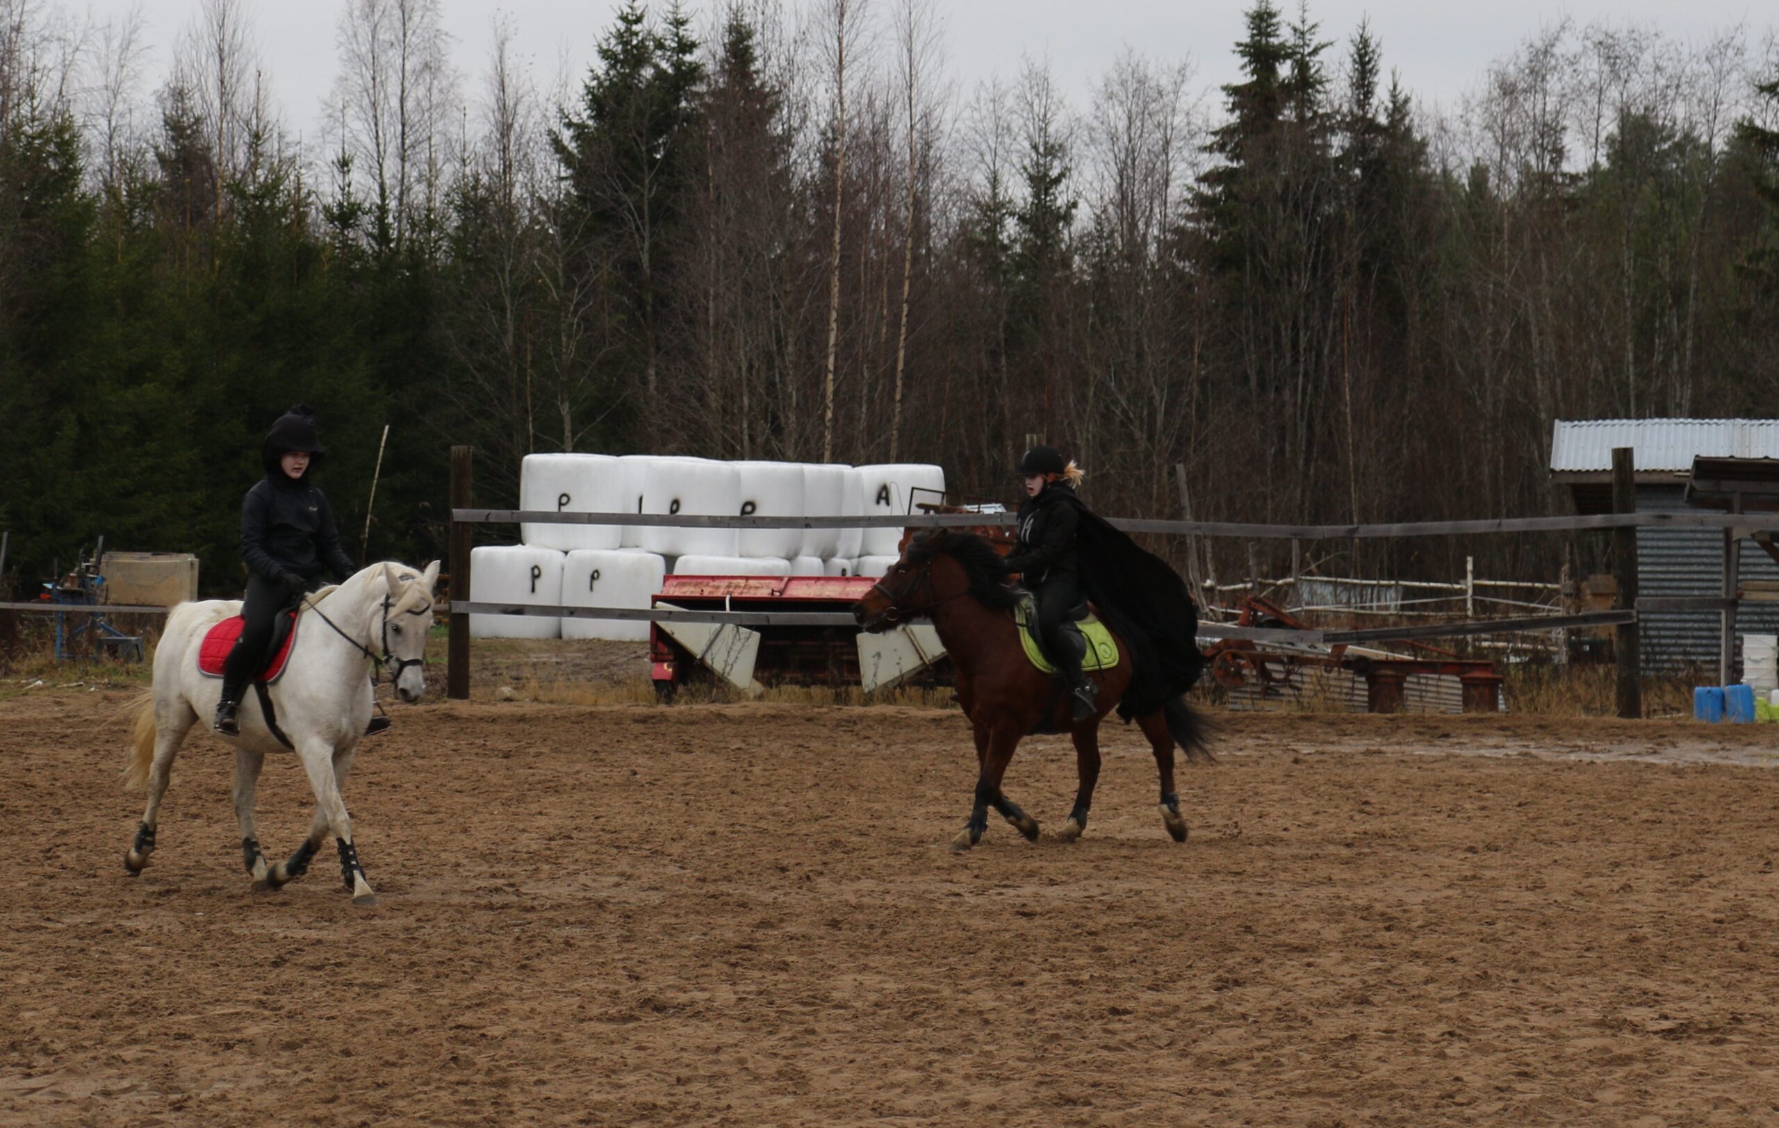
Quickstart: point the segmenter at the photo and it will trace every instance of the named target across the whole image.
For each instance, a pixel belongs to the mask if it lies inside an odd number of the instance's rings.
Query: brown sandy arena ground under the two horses
[[[206,735],[126,877],[119,701],[0,701],[0,1123],[1779,1119],[1770,728],[1226,717],[1187,845],[1115,728],[1078,845],[952,856],[957,713],[423,705],[354,909],[249,888]],[[267,763],[269,852],[310,802]]]

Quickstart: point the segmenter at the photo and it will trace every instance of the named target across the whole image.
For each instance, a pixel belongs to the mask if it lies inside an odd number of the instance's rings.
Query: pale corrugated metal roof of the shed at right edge
[[[1608,473],[1612,448],[1635,450],[1638,471],[1692,470],[1695,455],[1779,459],[1779,420],[1557,420],[1551,473]]]

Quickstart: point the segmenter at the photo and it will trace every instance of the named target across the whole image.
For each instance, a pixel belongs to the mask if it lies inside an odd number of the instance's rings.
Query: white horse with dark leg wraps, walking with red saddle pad
[[[370,722],[372,662],[390,665],[402,701],[418,701],[425,694],[422,660],[427,630],[432,626],[432,585],[438,576],[438,560],[423,573],[404,564],[372,564],[345,584],[304,600],[285,673],[267,690],[276,724],[290,738],[315,788],[315,818],[297,852],[274,866],[267,866],[253,831],[253,792],[265,754],[283,751],[285,745],[267,726],[258,696],[249,692],[244,697],[240,737],[228,740],[235,744],[240,850],[258,888],[276,890],[301,877],[331,829],[352,904],[377,904],[352,847],[352,820],[345,813],[340,788],[345,786],[352,753]],[[132,875],[142,872],[155,850],[155,822],[180,742],[199,717],[215,713],[222,696],[221,678],[197,671],[197,648],[213,624],[238,614],[238,600],[205,600],[180,603],[167,616],[167,630],[155,649],[153,692],[135,713],[135,756],[125,769],[130,786],[148,786],[142,826],[123,859]]]

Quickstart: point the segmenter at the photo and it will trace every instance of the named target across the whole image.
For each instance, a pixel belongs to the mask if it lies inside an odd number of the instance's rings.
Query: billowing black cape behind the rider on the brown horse
[[[1126,721],[1153,713],[1192,689],[1204,671],[1197,603],[1167,560],[1114,528],[1075,491],[1057,493],[1080,518],[1082,587],[1107,626],[1124,639],[1135,665],[1117,712]]]

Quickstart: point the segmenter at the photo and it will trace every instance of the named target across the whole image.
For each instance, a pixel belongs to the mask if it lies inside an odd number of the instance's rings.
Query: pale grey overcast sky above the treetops
[[[199,0],[85,0],[98,21],[139,9],[144,18],[144,75],[158,85],[180,28]],[[945,50],[952,78],[962,93],[991,73],[1012,78],[1021,57],[1050,57],[1057,80],[1080,105],[1096,77],[1126,46],[1162,62],[1192,59],[1194,87],[1213,91],[1233,82],[1231,46],[1242,34],[1249,0],[939,0]],[[82,11],[69,0],[71,12]],[[489,27],[496,14],[512,18],[518,48],[534,78],[550,87],[566,62],[578,77],[592,59],[592,44],[607,28],[616,0],[445,0],[445,27],[466,93],[487,60]],[[712,0],[690,0],[694,12]],[[1295,2],[1281,7],[1295,12]],[[247,0],[254,37],[265,59],[285,123],[301,137],[320,130],[322,105],[334,77],[334,32],[343,0]],[[877,2],[879,16],[888,11]],[[1384,46],[1384,62],[1402,73],[1411,93],[1427,107],[1455,105],[1489,60],[1507,55],[1541,25],[1564,16],[1654,25],[1667,36],[1701,41],[1719,30],[1745,25],[1751,44],[1774,25],[1772,5],[1747,0],[1316,0],[1309,14],[1320,21],[1334,53],[1359,20],[1370,16]]]

